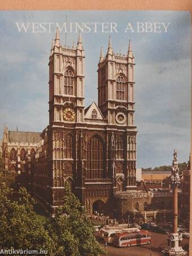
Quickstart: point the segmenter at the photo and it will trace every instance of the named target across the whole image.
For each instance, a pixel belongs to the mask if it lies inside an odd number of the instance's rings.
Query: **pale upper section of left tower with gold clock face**
[[[49,62],[49,124],[84,121],[85,54],[79,33],[77,47],[60,45],[59,29]]]

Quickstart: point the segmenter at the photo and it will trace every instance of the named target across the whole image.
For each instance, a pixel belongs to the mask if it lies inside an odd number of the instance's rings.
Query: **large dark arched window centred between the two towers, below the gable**
[[[87,147],[86,177],[101,179],[103,177],[103,144],[97,135],[91,137]]]

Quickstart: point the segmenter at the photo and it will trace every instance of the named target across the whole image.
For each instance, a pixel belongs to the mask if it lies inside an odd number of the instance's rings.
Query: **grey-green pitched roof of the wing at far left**
[[[9,142],[33,142],[37,143],[41,140],[41,132],[18,132],[8,131]]]

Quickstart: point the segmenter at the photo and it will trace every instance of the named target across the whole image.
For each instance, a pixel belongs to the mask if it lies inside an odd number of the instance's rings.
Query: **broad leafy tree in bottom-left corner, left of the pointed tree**
[[[5,183],[0,184],[0,247],[42,249],[54,256],[56,245],[33,211],[34,200],[25,188],[19,190],[19,195],[19,201],[12,201],[12,190]]]

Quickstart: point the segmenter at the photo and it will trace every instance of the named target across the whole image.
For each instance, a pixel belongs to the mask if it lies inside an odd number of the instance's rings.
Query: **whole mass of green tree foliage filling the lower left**
[[[34,199],[20,188],[12,199],[11,172],[0,167],[0,248],[47,250],[49,256],[97,256],[104,253],[80,201],[66,188],[63,207],[54,218],[40,218]]]

